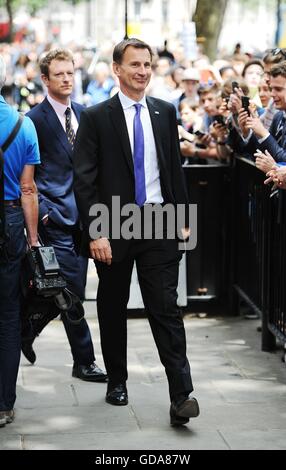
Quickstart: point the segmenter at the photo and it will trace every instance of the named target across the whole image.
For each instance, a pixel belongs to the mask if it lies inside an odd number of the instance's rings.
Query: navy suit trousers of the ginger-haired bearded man
[[[61,273],[68,288],[80,299],[84,298],[88,259],[79,256],[75,249],[74,228],[61,228],[51,220],[46,225],[40,223],[39,233],[45,244],[54,247]],[[73,317],[72,312],[70,312]],[[90,365],[95,360],[90,330],[86,320],[74,324],[65,314],[61,317],[71,347],[75,364]]]

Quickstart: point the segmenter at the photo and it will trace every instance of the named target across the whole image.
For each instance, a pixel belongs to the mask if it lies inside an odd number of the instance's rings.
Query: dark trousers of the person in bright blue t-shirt
[[[7,207],[8,241],[0,255],[0,411],[11,410],[21,354],[20,266],[25,253],[21,207]]]

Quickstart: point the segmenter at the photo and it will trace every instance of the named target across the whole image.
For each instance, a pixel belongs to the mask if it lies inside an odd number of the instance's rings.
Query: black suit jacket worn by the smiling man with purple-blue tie
[[[147,105],[164,203],[184,204],[187,209],[175,108],[166,101],[150,97],[147,97]],[[133,159],[118,95],[82,112],[74,147],[74,173],[75,196],[86,234],[95,218],[89,215],[93,204],[105,204],[112,214],[112,196],[120,196],[121,207],[134,203]],[[113,260],[119,260],[128,249],[128,241],[111,239],[111,247]]]

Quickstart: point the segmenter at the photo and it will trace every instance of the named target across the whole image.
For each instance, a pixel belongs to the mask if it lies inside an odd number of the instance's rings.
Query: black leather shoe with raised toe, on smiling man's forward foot
[[[194,397],[183,397],[173,400],[170,407],[171,426],[181,426],[189,422],[190,418],[196,418],[200,414],[200,408]]]

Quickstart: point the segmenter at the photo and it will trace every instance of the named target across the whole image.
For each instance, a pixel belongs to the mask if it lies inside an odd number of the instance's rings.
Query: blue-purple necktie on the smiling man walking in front
[[[146,201],[145,170],[144,170],[144,133],[140,119],[142,105],[134,104],[136,114],[133,121],[134,132],[134,174],[135,174],[135,202],[139,207]]]

